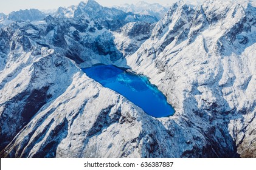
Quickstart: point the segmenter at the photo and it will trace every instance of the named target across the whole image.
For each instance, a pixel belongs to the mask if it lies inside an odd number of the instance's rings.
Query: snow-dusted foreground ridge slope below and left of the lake
[[[41,50],[10,59],[19,71],[2,76],[10,80],[1,88],[1,144],[18,134],[1,157],[168,156],[167,143],[157,140],[168,139],[159,121],[68,58]]]

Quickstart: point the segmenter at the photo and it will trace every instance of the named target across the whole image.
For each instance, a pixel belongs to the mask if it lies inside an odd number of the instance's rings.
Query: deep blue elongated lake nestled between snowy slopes
[[[153,117],[167,117],[174,113],[166,97],[150,84],[147,77],[112,65],[92,66],[83,71],[88,77],[123,95]]]

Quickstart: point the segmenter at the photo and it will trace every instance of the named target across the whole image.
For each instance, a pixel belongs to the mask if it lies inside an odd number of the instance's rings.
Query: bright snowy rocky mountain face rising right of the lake
[[[255,157],[255,7],[174,4],[128,65],[151,78],[186,129],[183,156]],[[191,128],[191,129],[190,129]],[[189,149],[191,148],[191,149]]]

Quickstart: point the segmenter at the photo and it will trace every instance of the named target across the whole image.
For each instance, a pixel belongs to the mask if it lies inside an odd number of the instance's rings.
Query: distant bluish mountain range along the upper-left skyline
[[[114,8],[102,7],[102,5],[93,0],[80,2],[78,5],[72,5],[67,8],[60,7],[56,12],[50,15],[57,18],[76,18],[78,16],[84,16],[94,19],[94,21],[112,30],[118,29],[128,22],[145,21],[154,23],[158,21],[155,16],[134,14]],[[13,21],[41,21],[46,16],[45,13],[36,9],[19,10],[7,16],[3,15],[0,24],[7,25]]]

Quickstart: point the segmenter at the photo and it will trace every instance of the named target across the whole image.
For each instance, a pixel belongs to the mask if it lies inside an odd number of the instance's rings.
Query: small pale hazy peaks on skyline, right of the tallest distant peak
[[[144,1],[137,2],[137,4],[123,4],[114,6],[114,8],[122,10],[124,12],[132,12],[140,15],[151,15],[157,19],[161,19],[165,13],[168,12],[169,7],[165,7],[161,4],[149,4]]]

